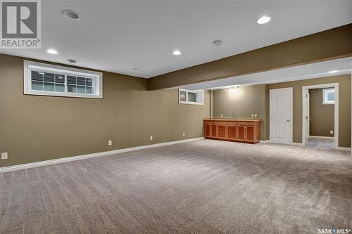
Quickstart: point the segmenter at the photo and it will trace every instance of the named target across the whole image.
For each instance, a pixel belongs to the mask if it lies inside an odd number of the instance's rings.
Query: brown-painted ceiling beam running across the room
[[[148,90],[168,89],[350,56],[352,56],[352,23],[161,74],[148,79]]]

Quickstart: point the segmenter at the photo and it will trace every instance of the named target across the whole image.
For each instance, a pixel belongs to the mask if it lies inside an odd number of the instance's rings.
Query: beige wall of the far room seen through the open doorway
[[[309,90],[310,136],[334,136],[334,105],[322,105],[322,89]]]

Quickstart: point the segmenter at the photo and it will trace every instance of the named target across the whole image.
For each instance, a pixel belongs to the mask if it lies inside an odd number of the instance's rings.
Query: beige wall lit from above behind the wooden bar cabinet
[[[213,117],[232,117],[234,110],[235,117],[251,117],[257,114],[263,119],[261,123],[261,139],[265,140],[265,124],[267,118],[266,106],[266,85],[258,84],[253,86],[242,86],[237,91],[224,91],[218,89],[213,91]]]

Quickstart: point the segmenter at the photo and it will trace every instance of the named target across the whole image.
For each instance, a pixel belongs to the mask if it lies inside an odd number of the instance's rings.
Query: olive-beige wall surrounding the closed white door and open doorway
[[[270,89],[294,88],[294,142],[302,142],[302,86],[315,84],[339,83],[339,146],[351,146],[351,74],[317,79],[305,79],[296,82],[268,84]],[[269,100],[267,100],[269,108]],[[269,117],[269,113],[268,113]],[[267,119],[268,122],[268,119]],[[269,122],[266,124],[269,138]]]

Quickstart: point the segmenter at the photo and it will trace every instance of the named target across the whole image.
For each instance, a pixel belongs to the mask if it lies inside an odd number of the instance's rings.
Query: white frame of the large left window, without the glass
[[[56,91],[38,91],[32,90],[32,70],[38,72],[51,72],[55,74],[63,74],[65,76],[65,92]],[[80,76],[86,78],[92,78],[94,83],[94,91],[90,93],[68,93],[67,91],[67,76]],[[63,67],[58,65],[51,65],[46,63],[37,63],[33,61],[23,61],[23,93],[27,95],[39,95],[39,96],[61,96],[61,97],[72,97],[72,98],[103,98],[103,73],[93,72],[89,70],[82,70],[73,67]]]

